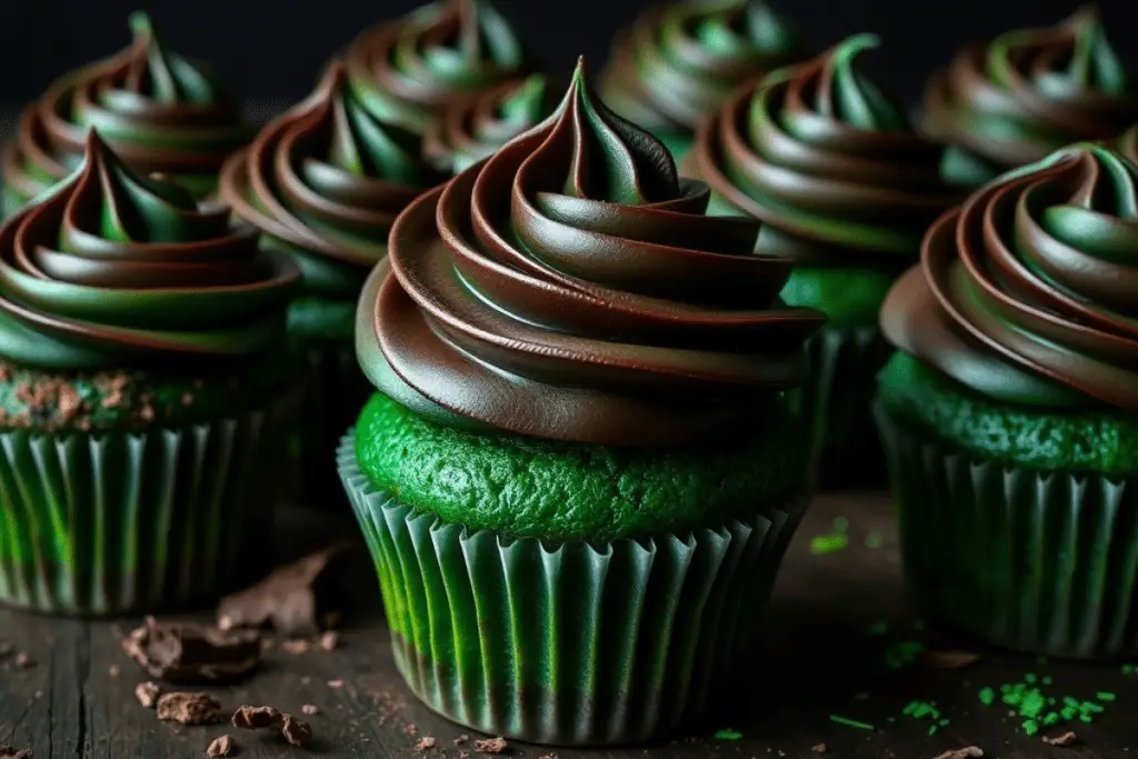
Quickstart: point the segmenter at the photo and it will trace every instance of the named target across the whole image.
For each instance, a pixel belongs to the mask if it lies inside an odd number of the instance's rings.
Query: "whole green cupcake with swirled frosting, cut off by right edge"
[[[1064,149],[929,231],[881,312],[905,570],[943,625],[1138,653],[1138,166]]]

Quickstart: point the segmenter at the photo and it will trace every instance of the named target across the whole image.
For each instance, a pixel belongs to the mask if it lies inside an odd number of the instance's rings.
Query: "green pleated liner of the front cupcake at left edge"
[[[214,600],[267,547],[294,405],[141,432],[0,432],[0,602],[106,616]]]

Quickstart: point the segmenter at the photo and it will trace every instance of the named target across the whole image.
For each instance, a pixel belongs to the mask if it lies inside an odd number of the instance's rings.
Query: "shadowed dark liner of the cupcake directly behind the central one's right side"
[[[811,481],[827,488],[884,485],[872,405],[890,347],[875,325],[823,327],[807,349],[810,379],[794,397],[810,430]]]

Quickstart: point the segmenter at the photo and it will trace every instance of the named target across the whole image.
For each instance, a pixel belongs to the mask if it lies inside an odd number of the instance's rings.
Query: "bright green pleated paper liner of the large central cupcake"
[[[339,467],[411,690],[467,727],[553,745],[646,741],[699,720],[748,670],[805,508],[550,548],[415,514],[361,472],[352,435]]]

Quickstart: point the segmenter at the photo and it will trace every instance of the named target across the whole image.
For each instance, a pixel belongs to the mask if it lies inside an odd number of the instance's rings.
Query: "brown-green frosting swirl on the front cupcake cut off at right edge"
[[[1066,148],[930,229],[881,312],[897,347],[1000,401],[1138,411],[1138,166]]]

